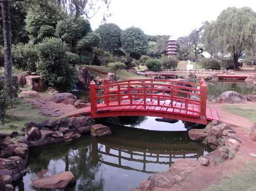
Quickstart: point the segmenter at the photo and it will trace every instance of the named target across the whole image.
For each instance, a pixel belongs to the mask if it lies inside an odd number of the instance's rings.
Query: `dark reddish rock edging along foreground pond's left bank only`
[[[94,137],[111,134],[109,127],[95,125],[91,117],[45,120],[41,123],[31,121],[25,131],[25,136],[20,137],[17,144],[14,144],[8,134],[0,134],[0,191],[14,191],[12,184],[29,170],[29,147],[70,142],[89,132]]]

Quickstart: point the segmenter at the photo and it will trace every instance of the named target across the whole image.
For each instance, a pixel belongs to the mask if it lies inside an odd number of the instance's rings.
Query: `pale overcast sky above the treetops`
[[[108,23],[126,29],[141,28],[148,35],[180,37],[199,28],[203,21],[216,20],[229,6],[249,6],[256,11],[255,0],[112,0]],[[101,24],[99,13],[90,20],[93,30]]]

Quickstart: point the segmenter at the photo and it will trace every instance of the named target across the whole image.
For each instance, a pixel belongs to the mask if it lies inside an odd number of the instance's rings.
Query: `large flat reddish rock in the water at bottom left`
[[[74,182],[72,172],[61,172],[51,177],[40,178],[32,181],[32,186],[36,189],[65,189],[68,184]]]

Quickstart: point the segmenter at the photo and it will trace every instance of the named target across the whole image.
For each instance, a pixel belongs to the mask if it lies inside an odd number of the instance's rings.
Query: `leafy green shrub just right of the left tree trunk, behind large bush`
[[[12,47],[13,65],[18,69],[36,71],[37,50],[32,44],[18,44]]]

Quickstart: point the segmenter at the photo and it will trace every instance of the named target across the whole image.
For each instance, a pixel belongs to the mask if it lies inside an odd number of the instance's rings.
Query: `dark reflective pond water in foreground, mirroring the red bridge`
[[[177,159],[196,160],[210,152],[208,146],[189,140],[182,121],[131,118],[130,123],[128,118],[112,120],[123,125],[105,124],[113,133],[109,137],[85,135],[71,143],[31,148],[31,171],[16,190],[34,191],[32,179],[71,171],[77,182],[65,191],[129,191],[150,174],[168,170]]]

